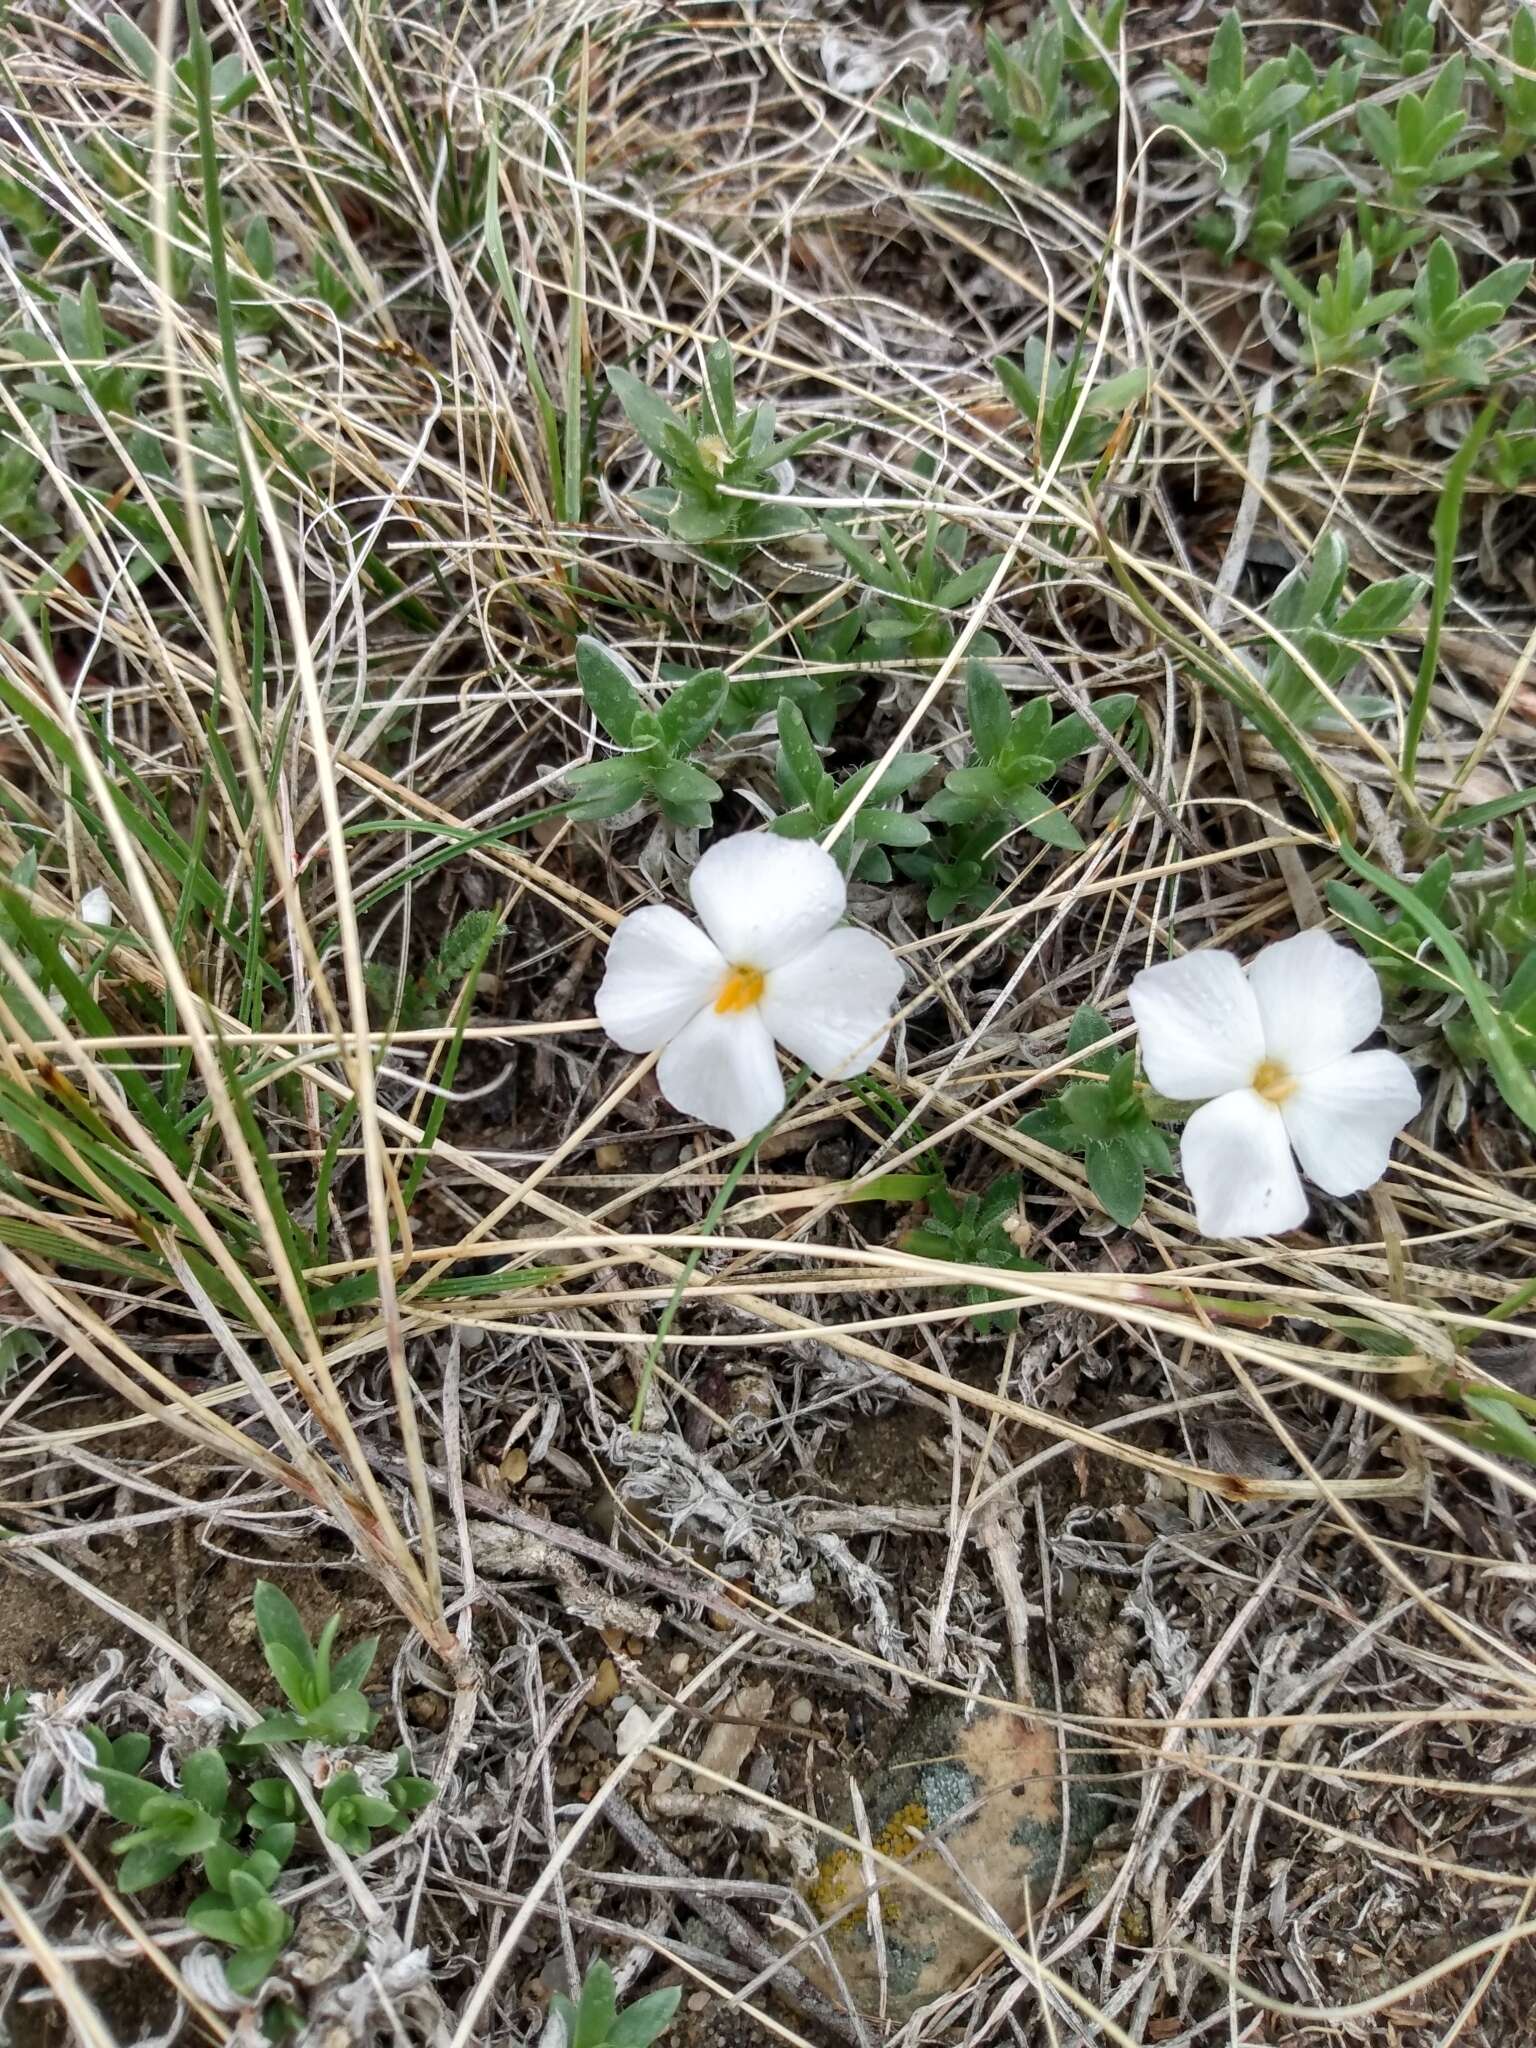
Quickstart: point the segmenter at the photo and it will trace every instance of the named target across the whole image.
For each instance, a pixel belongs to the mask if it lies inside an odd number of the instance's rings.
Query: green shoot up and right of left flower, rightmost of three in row
[[[1135,711],[1135,696],[1102,696],[1094,705],[1098,725],[1118,731]],[[1049,846],[1081,852],[1083,836],[1042,784],[1092,748],[1102,745],[1100,729],[1081,713],[1051,717],[1051,702],[1032,696],[1010,711],[1008,692],[993,672],[977,662],[967,686],[971,762],[944,776],[944,788],[928,799],[924,817],[950,827],[1022,825]]]

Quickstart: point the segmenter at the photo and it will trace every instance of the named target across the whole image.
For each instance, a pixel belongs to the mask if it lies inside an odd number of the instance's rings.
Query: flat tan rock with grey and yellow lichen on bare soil
[[[1024,1712],[983,1706],[967,1718],[963,1702],[940,1700],[913,1714],[897,1751],[860,1788],[874,1849],[903,1866],[901,1876],[883,1872],[881,1882],[889,2017],[901,2019],[950,1991],[997,1946],[952,1911],[961,1905],[975,1915],[965,1886],[1020,1929],[1038,1915],[1051,1886],[1077,1870],[1106,1821],[1094,1776],[1075,1767],[1063,1802],[1057,1735]],[[948,1858],[932,1847],[934,1839]],[[905,1882],[907,1872],[938,1896]],[[823,1925],[831,1923],[827,1944],[848,1997],[874,2013],[881,1968],[862,1855],[842,1847],[825,1855],[807,1901]],[[831,1970],[809,1960],[807,1950],[797,1960],[842,1999]]]

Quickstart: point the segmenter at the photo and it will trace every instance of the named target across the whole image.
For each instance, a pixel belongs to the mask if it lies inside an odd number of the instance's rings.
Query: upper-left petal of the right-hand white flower
[[[1260,1008],[1231,952],[1186,952],[1143,967],[1130,983],[1141,1065],[1176,1102],[1204,1102],[1247,1087],[1264,1059]]]

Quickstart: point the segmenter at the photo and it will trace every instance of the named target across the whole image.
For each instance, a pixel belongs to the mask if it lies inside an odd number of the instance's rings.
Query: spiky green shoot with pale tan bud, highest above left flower
[[[795,459],[836,426],[778,440],[770,403],[737,406],[729,342],[705,354],[705,389],[688,420],[633,371],[610,369],[608,383],[666,477],[633,492],[633,502],[692,549],[713,582],[729,588],[756,549],[807,530],[805,514],[782,500],[795,483]],[[743,492],[760,496],[737,496]]]

